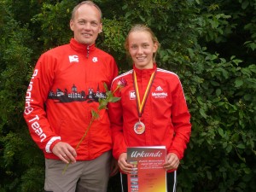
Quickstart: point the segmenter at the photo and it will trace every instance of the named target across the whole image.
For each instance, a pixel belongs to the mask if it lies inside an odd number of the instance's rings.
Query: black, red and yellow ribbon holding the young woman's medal
[[[153,84],[155,73],[156,73],[156,71],[154,71],[154,73],[151,74],[151,77],[150,77],[148,85],[147,85],[147,89],[143,96],[143,101],[141,102],[140,94],[139,94],[138,87],[137,87],[137,76],[136,76],[136,72],[133,70],[133,84],[134,84],[134,88],[135,88],[135,95],[136,95],[136,99],[137,99],[137,111],[138,111],[139,117],[141,117],[143,114],[143,109],[144,109],[145,103],[148,98],[149,90]]]

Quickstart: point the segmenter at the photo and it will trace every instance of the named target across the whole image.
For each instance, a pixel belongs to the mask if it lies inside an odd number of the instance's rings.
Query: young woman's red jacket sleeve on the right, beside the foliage
[[[181,160],[191,133],[190,114],[183,93],[183,87],[177,78],[172,90],[172,125],[174,127],[174,137],[172,145],[168,148],[168,153],[177,154]]]

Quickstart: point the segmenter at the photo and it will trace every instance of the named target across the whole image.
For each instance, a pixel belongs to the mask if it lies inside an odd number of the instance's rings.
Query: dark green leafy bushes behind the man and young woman
[[[160,41],[158,66],[183,82],[192,135],[177,192],[256,190],[256,3],[254,0],[95,0],[103,13],[97,46],[131,68],[124,42],[144,23]],[[74,0],[0,0],[0,191],[44,190],[44,155],[22,117],[34,64],[67,44]],[[109,192],[119,191],[118,177]]]

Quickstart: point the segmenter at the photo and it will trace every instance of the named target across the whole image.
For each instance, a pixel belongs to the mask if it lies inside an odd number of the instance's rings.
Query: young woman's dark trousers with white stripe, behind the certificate
[[[167,172],[167,192],[176,192],[177,175],[176,172]],[[128,192],[127,175],[120,173],[121,192]]]

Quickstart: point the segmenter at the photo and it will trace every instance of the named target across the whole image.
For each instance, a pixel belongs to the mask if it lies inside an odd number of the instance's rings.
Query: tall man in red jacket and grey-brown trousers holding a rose
[[[96,48],[102,12],[95,3],[79,3],[70,28],[74,37],[69,44],[40,56],[26,92],[24,118],[44,151],[45,191],[107,191],[112,140],[105,109],[79,141],[91,109],[96,111],[99,98],[106,96],[104,83],[110,86],[118,68],[111,55]]]

